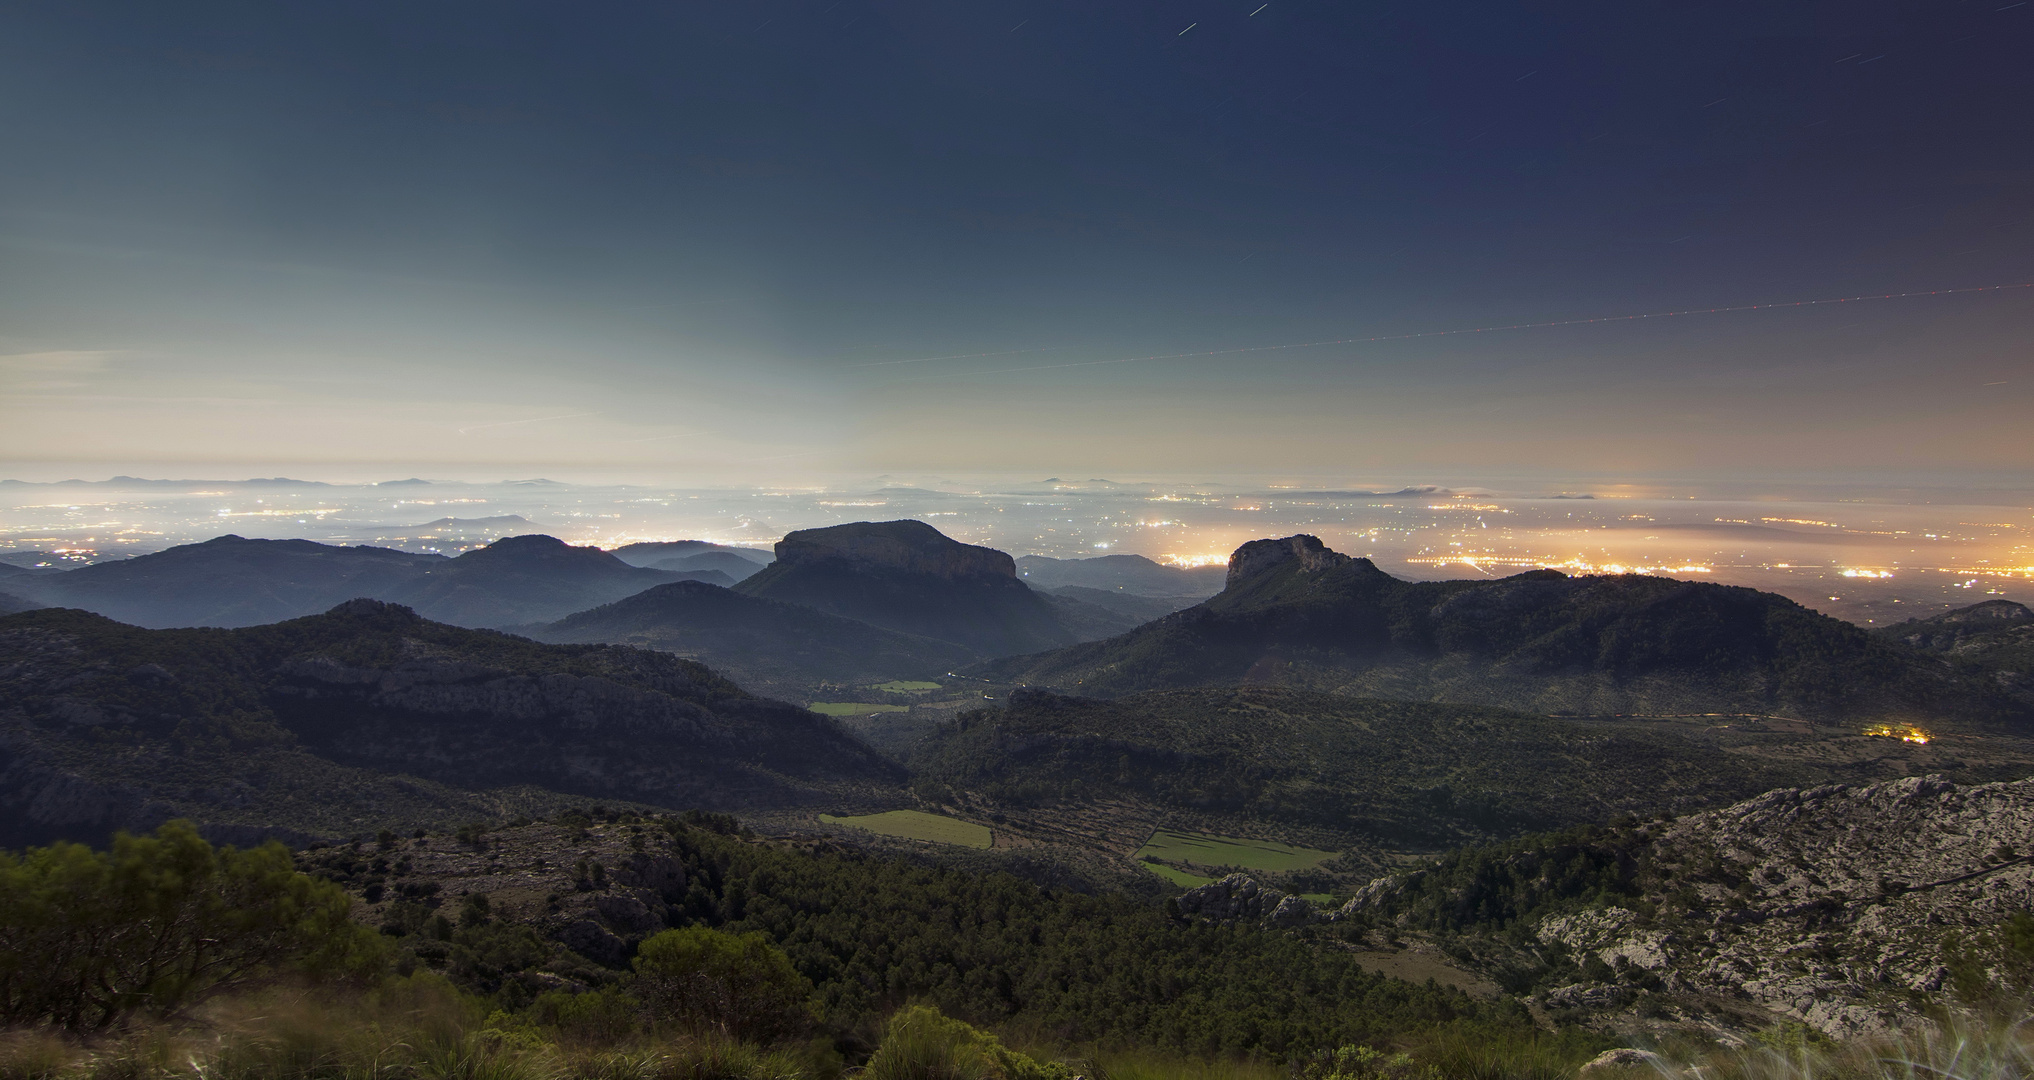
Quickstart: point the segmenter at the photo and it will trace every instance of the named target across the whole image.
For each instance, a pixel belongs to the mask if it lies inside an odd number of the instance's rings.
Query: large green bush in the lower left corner
[[[102,1029],[264,972],[376,968],[350,909],[281,844],[214,848],[189,822],[0,852],[0,1023]]]

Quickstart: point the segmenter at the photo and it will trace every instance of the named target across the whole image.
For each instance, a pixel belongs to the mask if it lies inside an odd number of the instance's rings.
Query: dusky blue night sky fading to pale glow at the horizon
[[[2034,289],[1363,342],[2034,283],[2014,0],[14,2],[0,146],[14,476],[2034,476]]]

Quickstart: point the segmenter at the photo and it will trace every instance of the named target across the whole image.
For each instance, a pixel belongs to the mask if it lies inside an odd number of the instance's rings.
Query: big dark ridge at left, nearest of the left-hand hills
[[[565,797],[838,805],[901,771],[832,720],[679,657],[539,645],[372,600],[271,626],[0,618],[0,844],[191,818],[362,836]]]

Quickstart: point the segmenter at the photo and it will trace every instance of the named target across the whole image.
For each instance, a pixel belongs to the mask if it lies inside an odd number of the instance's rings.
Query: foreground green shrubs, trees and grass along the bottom
[[[1617,1045],[1507,999],[1371,974],[1349,952],[1361,921],[1184,923],[1125,897],[767,842],[724,816],[610,816],[543,828],[626,830],[637,854],[683,866],[685,891],[608,964],[486,893],[364,887],[348,879],[350,852],[370,858],[358,848],[309,858],[313,877],[275,844],[212,848],[171,824],[104,852],[4,856],[0,1080],[1554,1080]],[[1397,925],[1515,927],[1643,877],[1627,824],[1534,840],[1560,842],[1560,875],[1513,879],[1517,844],[1458,852],[1395,899]],[[488,834],[458,842],[484,850]],[[342,881],[405,899],[362,905]],[[2034,956],[2034,917],[2010,929]],[[1591,1076],[1989,1080],[2034,1064],[2016,1025],[1851,1045],[1784,1025],[1731,1052],[1672,1039]]]

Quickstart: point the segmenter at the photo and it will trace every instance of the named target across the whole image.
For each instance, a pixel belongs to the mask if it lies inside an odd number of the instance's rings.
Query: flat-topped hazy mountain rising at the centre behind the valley
[[[921,521],[789,533],[777,543],[777,561],[734,590],[986,657],[1074,641],[1052,604],[1017,580],[1009,555],[948,539]]]

